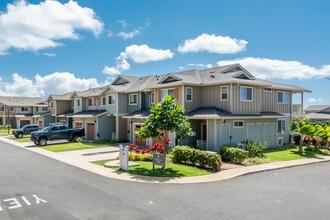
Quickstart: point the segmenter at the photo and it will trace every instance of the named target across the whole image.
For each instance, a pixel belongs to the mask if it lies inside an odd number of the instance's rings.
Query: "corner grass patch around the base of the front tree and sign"
[[[104,166],[106,162],[108,161],[101,161],[94,163],[100,166]],[[135,162],[139,163],[140,166],[130,167],[129,170],[127,171],[128,173],[142,175],[142,176],[161,176],[161,177],[201,176],[201,175],[207,175],[213,173],[211,170],[205,170],[193,166],[167,163],[166,172],[164,175],[162,167],[160,166],[156,166],[155,172],[152,172],[152,162],[146,162],[146,161],[135,161]],[[119,168],[113,168],[113,169],[119,170]]]

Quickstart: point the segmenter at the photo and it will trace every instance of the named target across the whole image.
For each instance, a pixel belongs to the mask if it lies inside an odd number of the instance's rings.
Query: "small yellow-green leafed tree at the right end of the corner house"
[[[315,128],[313,125],[305,124],[303,121],[293,121],[290,124],[290,131],[291,133],[298,133],[300,135],[300,142],[299,142],[299,153],[304,152],[304,140],[306,136],[313,135],[315,132]]]

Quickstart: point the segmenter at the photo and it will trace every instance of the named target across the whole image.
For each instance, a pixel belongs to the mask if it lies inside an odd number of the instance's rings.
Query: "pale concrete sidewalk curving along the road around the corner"
[[[71,154],[70,152],[66,153],[54,153],[39,147],[28,147],[31,144],[26,143],[18,143],[13,140],[9,140],[7,138],[0,137],[0,140],[13,144],[17,147],[21,147],[30,151],[34,151],[36,153],[42,154],[44,156],[53,158],[55,160],[79,167],[84,170],[88,170],[90,172],[113,178],[118,180],[126,180],[126,181],[135,181],[135,182],[147,182],[147,183],[202,183],[202,182],[213,182],[213,181],[220,181],[226,180],[230,178],[234,178],[237,176],[242,176],[251,173],[257,172],[264,172],[269,170],[276,170],[276,169],[283,169],[307,164],[314,164],[314,163],[322,163],[330,161],[330,156],[322,156],[316,158],[307,158],[307,159],[299,159],[299,160],[290,160],[290,161],[280,161],[280,162],[273,162],[273,163],[266,163],[266,164],[259,164],[254,166],[246,166],[246,167],[238,167],[234,169],[223,170],[217,173],[204,175],[204,176],[194,176],[194,177],[147,177],[147,176],[139,176],[139,175],[131,175],[125,172],[115,171],[110,168],[105,168],[99,165],[95,165],[90,163],[89,160],[82,160],[81,156],[77,156],[76,154],[80,154],[80,151],[77,150],[76,153]],[[109,147],[107,149],[113,149],[114,147]],[[103,148],[102,148],[103,149]],[[91,149],[89,149],[91,150]],[[100,150],[100,148],[98,148]],[[103,150],[101,150],[103,151]],[[92,152],[92,151],[85,151],[85,152]],[[65,155],[68,154],[68,155]],[[118,155],[118,154],[117,154]]]

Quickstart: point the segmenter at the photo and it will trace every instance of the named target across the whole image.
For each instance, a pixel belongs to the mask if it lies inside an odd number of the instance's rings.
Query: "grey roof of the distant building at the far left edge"
[[[0,104],[6,106],[47,106],[40,97],[0,96]]]

